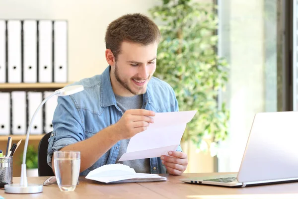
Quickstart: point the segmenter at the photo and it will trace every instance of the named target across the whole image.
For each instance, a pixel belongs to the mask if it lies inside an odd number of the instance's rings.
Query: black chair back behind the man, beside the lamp
[[[47,163],[49,138],[52,132],[45,134],[38,145],[38,176],[55,176],[52,168]]]

